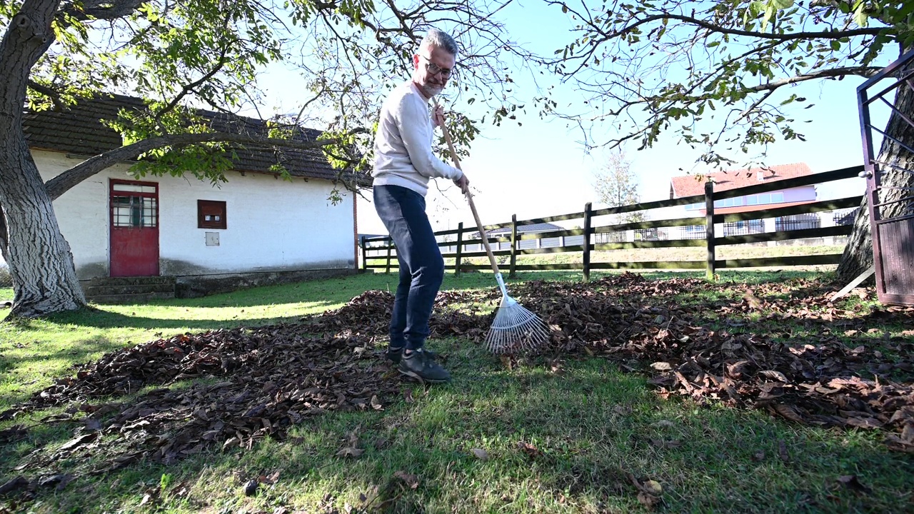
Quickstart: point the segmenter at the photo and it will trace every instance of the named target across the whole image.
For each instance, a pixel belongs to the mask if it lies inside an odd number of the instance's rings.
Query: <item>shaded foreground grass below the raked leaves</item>
[[[892,511],[909,504],[910,458],[887,452],[874,434],[664,402],[642,377],[602,359],[569,361],[558,372],[542,363],[508,370],[481,348],[446,342],[451,384],[426,390],[404,383],[410,401],[326,413],[293,426],[284,442],[211,449],[175,466],[140,463],[105,477],[80,473],[77,458],[26,473],[78,475],[61,492],[39,491],[43,509],[57,512],[85,505],[330,512],[345,504],[354,512],[638,511],[632,477],[657,481],[661,507],[673,512]],[[4,467],[69,440],[75,426],[42,428],[27,443],[0,446],[15,455]],[[364,454],[337,455],[354,439]],[[87,453],[96,463],[113,456]],[[274,472],[275,483],[268,478],[256,496],[244,496],[246,482]],[[841,476],[856,476],[866,491],[841,486]],[[154,501],[141,507],[150,493]]]

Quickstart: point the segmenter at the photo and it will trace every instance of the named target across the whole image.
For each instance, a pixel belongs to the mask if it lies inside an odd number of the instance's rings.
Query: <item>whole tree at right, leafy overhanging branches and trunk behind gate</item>
[[[548,62],[585,95],[588,109],[558,112],[581,123],[590,145],[641,148],[662,136],[703,150],[708,165],[753,164],[756,150],[803,140],[795,116],[811,104],[790,86],[872,77],[914,48],[914,3],[864,0],[550,0],[577,23]],[[904,72],[900,70],[899,72]],[[555,99],[541,99],[557,112]],[[914,90],[899,88],[878,160],[896,166],[886,201],[914,187]],[[605,139],[594,127],[611,126]],[[602,134],[606,134],[603,132]],[[744,159],[749,159],[745,161]],[[758,164],[758,161],[756,161]],[[865,201],[866,203],[866,201]],[[885,216],[908,209],[900,202]],[[853,278],[872,262],[867,209],[859,209],[839,273]]]

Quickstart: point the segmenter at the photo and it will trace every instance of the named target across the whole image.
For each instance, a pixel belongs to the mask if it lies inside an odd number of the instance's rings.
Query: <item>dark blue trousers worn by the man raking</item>
[[[375,186],[375,209],[397,246],[399,284],[390,318],[390,346],[422,348],[429,337],[444,260],[425,214],[425,198],[399,186]]]

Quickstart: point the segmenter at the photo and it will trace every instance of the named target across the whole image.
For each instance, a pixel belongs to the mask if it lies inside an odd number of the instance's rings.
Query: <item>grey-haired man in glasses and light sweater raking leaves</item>
[[[375,209],[397,246],[399,284],[390,319],[387,357],[401,373],[428,382],[451,374],[425,350],[435,294],[444,278],[444,260],[425,214],[430,178],[450,178],[463,193],[469,180],[431,151],[434,127],[444,123],[431,97],[447,85],[457,60],[457,42],[431,29],[412,58],[412,77],[390,93],[375,134]]]

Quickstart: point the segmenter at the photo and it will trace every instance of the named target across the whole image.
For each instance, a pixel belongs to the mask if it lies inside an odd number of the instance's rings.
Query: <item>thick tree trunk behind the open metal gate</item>
[[[912,68],[914,68],[914,63],[908,64],[898,73],[902,74]],[[914,120],[914,86],[911,86],[910,83],[901,84],[896,91],[895,108],[904,112],[909,119]],[[909,125],[897,112],[892,112],[889,116],[886,133],[905,145],[914,147],[914,127]],[[912,189],[904,188],[914,187],[914,155],[911,155],[903,146],[885,137],[879,148],[877,160],[909,170],[905,172],[890,166],[879,166],[883,187],[879,191],[879,201],[885,202],[910,196]],[[889,189],[888,187],[895,188]],[[909,206],[906,202],[899,202],[879,209],[882,218],[885,219],[901,215],[906,209],[909,209]],[[845,253],[838,264],[838,276],[841,280],[850,282],[872,265],[873,237],[870,231],[868,200],[865,196],[854,219],[854,230],[847,241]]]

